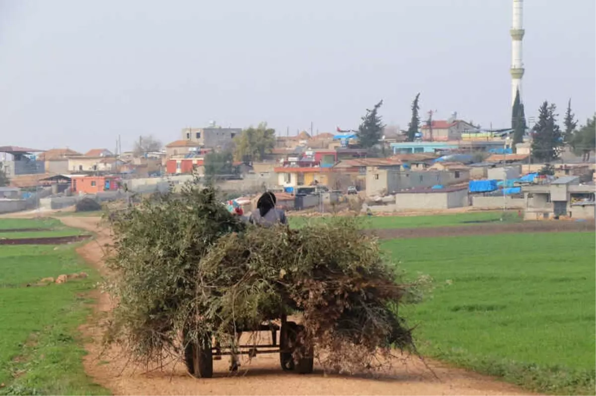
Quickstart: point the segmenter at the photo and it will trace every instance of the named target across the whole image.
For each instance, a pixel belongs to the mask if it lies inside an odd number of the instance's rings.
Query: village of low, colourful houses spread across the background
[[[479,129],[456,117],[423,124],[415,141],[406,141],[405,131],[385,131],[380,145],[388,154],[380,158],[371,158],[353,131],[275,136],[258,161],[232,160],[216,184],[246,212],[269,190],[289,211],[329,212],[358,198],[367,213],[500,208],[519,210],[526,220],[595,219],[596,164],[566,147],[544,172],[547,164],[531,159],[529,135],[513,146],[513,129]],[[215,123],[185,128],[163,148],[147,138],[153,151],[139,151],[142,138],[128,152],[0,146],[10,180],[0,187],[0,213],[164,192],[193,175],[206,180],[209,156],[233,146],[242,133]]]

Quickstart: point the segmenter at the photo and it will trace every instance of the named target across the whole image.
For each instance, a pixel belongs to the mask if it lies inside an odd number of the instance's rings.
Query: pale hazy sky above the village
[[[511,119],[511,0],[0,0],[0,146],[131,148],[188,126],[278,135],[421,112]],[[594,0],[524,2],[523,100],[596,112]]]

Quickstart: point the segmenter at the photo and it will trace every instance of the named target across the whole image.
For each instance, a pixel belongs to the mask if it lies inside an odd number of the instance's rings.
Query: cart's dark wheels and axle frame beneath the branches
[[[221,348],[217,340],[205,336],[198,342],[187,343],[184,349],[184,359],[188,372],[197,378],[212,378],[213,360],[220,360],[222,356],[231,356],[231,371],[238,369],[237,357],[249,355],[256,357],[259,354],[280,354],[280,365],[284,371],[293,371],[299,374],[312,373],[314,354],[313,347],[304,345],[304,328],[296,322],[290,322],[286,316],[281,317],[281,326],[269,322],[257,329],[242,329],[242,332],[271,332],[272,343],[268,345],[237,345],[235,350]],[[280,333],[279,342],[277,333]],[[239,337],[238,337],[239,339]],[[214,342],[215,341],[215,342]],[[240,342],[239,342],[240,344]],[[299,351],[294,358],[294,352]]]

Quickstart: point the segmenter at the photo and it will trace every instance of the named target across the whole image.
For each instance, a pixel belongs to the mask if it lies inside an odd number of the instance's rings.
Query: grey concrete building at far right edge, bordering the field
[[[558,217],[595,219],[596,185],[581,185],[578,176],[565,176],[550,184],[523,186],[525,220]]]

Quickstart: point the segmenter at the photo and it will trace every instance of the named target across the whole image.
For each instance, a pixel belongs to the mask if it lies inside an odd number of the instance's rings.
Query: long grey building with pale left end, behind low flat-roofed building
[[[367,167],[366,191],[368,197],[394,194],[412,188],[450,186],[470,180],[469,171],[421,170],[403,171],[398,167]]]

